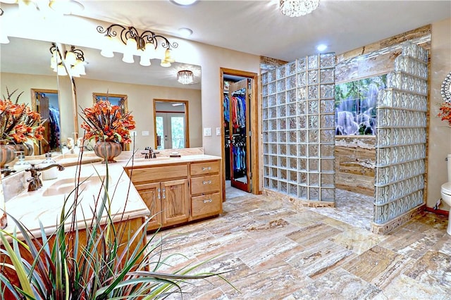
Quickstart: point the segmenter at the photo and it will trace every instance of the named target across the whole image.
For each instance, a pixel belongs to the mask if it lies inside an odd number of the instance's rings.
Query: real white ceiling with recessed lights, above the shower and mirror
[[[80,1],[80,15],[178,36],[189,27],[193,41],[285,61],[316,53],[323,43],[341,54],[386,37],[451,18],[451,1],[321,0],[309,15],[290,18],[278,0],[197,1],[178,6],[161,1]]]

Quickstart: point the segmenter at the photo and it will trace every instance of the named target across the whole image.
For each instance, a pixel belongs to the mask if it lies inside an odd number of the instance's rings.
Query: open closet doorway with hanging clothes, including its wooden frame
[[[260,194],[257,74],[221,68],[224,187]],[[226,192],[224,191],[224,194]]]

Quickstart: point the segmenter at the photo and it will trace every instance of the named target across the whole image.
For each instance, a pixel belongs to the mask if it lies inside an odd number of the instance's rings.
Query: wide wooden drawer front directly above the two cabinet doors
[[[130,175],[130,172],[129,172]],[[187,177],[188,165],[161,165],[150,168],[134,168],[131,180],[135,182],[162,181],[171,178]]]

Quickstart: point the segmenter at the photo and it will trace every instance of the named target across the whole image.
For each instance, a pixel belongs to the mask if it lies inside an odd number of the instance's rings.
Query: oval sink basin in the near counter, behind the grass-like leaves
[[[91,177],[80,177],[78,188],[82,189],[96,189],[97,191],[101,187],[101,181],[104,180],[104,176],[99,177],[92,175]],[[109,178],[111,184],[111,177]],[[70,194],[75,189],[75,180],[73,178],[65,178],[54,182],[51,186],[47,187],[42,193],[42,196],[56,196],[62,194]]]

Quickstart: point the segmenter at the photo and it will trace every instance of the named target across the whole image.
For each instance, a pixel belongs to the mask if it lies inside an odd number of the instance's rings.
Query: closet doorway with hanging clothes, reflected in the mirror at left
[[[37,111],[44,122],[44,139],[35,145],[35,155],[61,151],[61,119],[58,91],[54,89],[32,89],[32,111]]]

